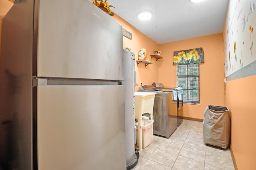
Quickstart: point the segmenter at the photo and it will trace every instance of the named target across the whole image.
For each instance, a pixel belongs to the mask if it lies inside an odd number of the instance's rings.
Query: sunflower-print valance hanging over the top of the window
[[[202,48],[174,51],[173,65],[204,63],[204,51]]]

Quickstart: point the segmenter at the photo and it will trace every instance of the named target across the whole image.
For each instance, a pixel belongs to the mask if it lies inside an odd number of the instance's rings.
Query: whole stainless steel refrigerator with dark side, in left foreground
[[[88,0],[2,22],[0,169],[126,169],[122,26]]]

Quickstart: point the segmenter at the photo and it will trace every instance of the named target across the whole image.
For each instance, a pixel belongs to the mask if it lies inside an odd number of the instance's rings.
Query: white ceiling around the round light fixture
[[[108,4],[118,16],[162,44],[222,33],[228,0],[108,0]],[[144,10],[153,14],[148,21],[138,19]]]

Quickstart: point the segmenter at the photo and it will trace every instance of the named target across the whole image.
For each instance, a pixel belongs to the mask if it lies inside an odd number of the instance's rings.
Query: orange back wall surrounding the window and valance
[[[184,117],[203,119],[207,105],[224,106],[224,59],[222,33],[159,45],[164,57],[159,66],[159,82],[176,86],[173,52],[202,47],[204,62],[200,68],[200,105],[184,104]]]

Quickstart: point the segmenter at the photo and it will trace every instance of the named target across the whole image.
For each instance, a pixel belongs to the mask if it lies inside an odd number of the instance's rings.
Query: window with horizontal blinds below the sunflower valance
[[[176,85],[183,89],[184,102],[199,102],[199,64],[176,65]]]

